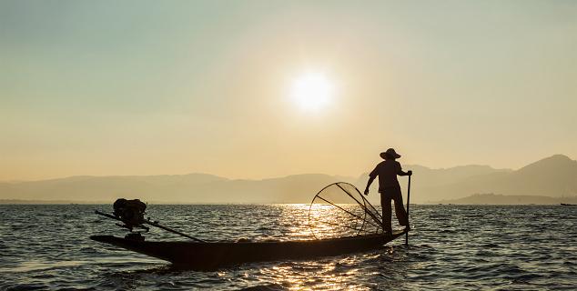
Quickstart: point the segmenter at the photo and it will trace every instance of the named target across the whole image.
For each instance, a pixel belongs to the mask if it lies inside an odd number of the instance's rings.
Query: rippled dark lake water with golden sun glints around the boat
[[[91,241],[111,206],[0,206],[0,289],[577,289],[577,206],[411,206],[410,246],[197,272]],[[308,239],[306,205],[148,206],[210,240]],[[154,229],[147,240],[177,236]]]

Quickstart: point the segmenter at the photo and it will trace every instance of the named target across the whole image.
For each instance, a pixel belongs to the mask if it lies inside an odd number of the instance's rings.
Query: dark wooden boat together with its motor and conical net
[[[339,204],[331,202],[335,199],[339,200]],[[355,186],[342,182],[326,186],[313,198],[309,206],[309,227],[316,239],[311,240],[207,242],[145,219],[146,207],[137,199],[118,199],[112,215],[96,211],[97,215],[122,222],[116,226],[128,228],[130,233],[126,237],[90,238],[157,257],[176,266],[215,269],[250,262],[337,256],[375,249],[402,235],[407,237],[407,231],[383,235],[380,212],[370,205]],[[348,218],[334,221],[335,211],[339,212],[339,217]],[[159,227],[192,241],[145,241],[142,232],[133,231],[134,228],[141,228],[147,232],[147,226]]]

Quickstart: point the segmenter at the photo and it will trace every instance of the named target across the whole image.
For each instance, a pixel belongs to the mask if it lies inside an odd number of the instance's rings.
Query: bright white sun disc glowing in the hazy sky
[[[300,75],[292,84],[290,97],[306,111],[319,111],[330,105],[334,95],[333,84],[320,73]]]

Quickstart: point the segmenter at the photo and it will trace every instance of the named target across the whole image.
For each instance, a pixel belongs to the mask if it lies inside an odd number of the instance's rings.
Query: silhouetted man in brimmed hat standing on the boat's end
[[[403,172],[400,163],[396,161],[396,159],[400,158],[400,155],[397,154],[393,148],[380,153],[380,157],[382,157],[384,161],[380,162],[379,165],[370,172],[369,182],[367,182],[367,188],[365,188],[365,195],[369,195],[370,184],[377,176],[379,176],[380,206],[382,207],[383,220],[382,228],[385,234],[392,235],[392,227],[390,225],[390,200],[395,202],[395,214],[399,220],[400,226],[405,226],[406,230],[410,229],[409,217],[407,216],[407,212],[402,203],[402,195],[400,193],[400,185],[399,180],[397,180],[397,175],[411,176],[412,171]]]

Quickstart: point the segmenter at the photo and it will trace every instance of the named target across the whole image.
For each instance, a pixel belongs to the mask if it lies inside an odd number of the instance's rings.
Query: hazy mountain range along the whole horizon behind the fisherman
[[[518,170],[491,166],[411,169],[411,202],[436,203],[466,196],[577,196],[577,161],[554,155]],[[358,177],[303,174],[261,180],[228,179],[208,174],[160,176],[72,176],[59,179],[0,183],[0,199],[113,202],[118,197],[157,203],[309,203],[322,187],[344,181],[362,191],[365,173]],[[400,177],[406,195],[406,177]],[[377,183],[371,200],[378,201]],[[482,196],[491,204],[491,196]],[[494,197],[494,196],[493,196]],[[520,200],[520,204],[523,201]],[[481,199],[482,200],[482,199]],[[528,204],[530,202],[526,202]]]

